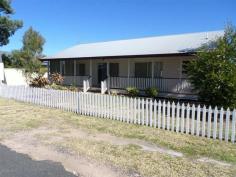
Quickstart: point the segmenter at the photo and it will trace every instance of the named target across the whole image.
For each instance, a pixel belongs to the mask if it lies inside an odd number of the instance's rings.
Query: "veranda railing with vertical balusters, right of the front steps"
[[[187,79],[179,78],[127,78],[110,77],[110,87],[125,89],[136,87],[144,90],[150,87],[157,87],[160,92],[192,94],[191,84]]]

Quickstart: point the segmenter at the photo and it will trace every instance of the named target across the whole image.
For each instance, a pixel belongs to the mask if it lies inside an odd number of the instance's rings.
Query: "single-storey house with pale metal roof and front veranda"
[[[65,85],[124,90],[159,88],[164,96],[195,95],[185,65],[195,59],[196,49],[224,34],[211,31],[81,44],[42,60],[49,76],[58,72]]]

